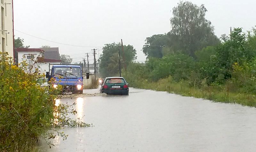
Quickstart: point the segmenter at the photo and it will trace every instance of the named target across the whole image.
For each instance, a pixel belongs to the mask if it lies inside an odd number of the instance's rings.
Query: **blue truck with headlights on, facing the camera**
[[[49,64],[46,77],[53,88],[62,85],[63,94],[83,93],[83,65]],[[89,79],[89,73],[86,73],[86,79]]]

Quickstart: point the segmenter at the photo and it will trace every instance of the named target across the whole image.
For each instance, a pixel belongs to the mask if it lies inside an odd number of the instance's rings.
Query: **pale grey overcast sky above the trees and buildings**
[[[11,1],[11,0],[6,0]],[[69,54],[82,61],[85,53],[107,43],[131,44],[138,60],[145,60],[141,49],[146,37],[170,31],[172,8],[178,0],[14,0],[14,35],[24,38],[31,48],[49,45],[59,47],[60,54]],[[229,27],[244,31],[256,25],[255,0],[191,0],[204,4],[206,18],[215,27],[218,37],[229,34]],[[23,33],[20,33],[18,31]],[[57,44],[90,46],[77,47]],[[93,56],[89,61],[92,63]],[[97,55],[98,57],[98,55]]]

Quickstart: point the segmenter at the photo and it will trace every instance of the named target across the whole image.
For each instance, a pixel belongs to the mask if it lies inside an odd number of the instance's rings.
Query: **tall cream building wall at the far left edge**
[[[1,52],[8,52],[10,57],[13,56],[13,5],[12,0],[1,0],[1,30],[0,44]]]

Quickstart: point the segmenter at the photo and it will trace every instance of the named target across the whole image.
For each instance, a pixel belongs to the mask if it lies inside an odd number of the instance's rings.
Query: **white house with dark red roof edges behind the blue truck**
[[[30,72],[34,72],[37,67],[40,73],[45,74],[49,71],[49,63],[60,64],[61,62],[61,60],[46,59],[43,49],[15,48],[15,52],[18,53],[18,63],[20,64],[22,61],[26,60],[28,71]]]

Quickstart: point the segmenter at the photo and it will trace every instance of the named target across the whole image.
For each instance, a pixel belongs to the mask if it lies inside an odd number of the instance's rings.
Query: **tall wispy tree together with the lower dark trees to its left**
[[[205,19],[206,12],[203,4],[198,7],[191,2],[181,1],[172,10],[172,30],[167,34],[147,37],[143,53],[148,58],[162,58],[173,53],[195,57],[196,51],[220,44],[211,22]]]

